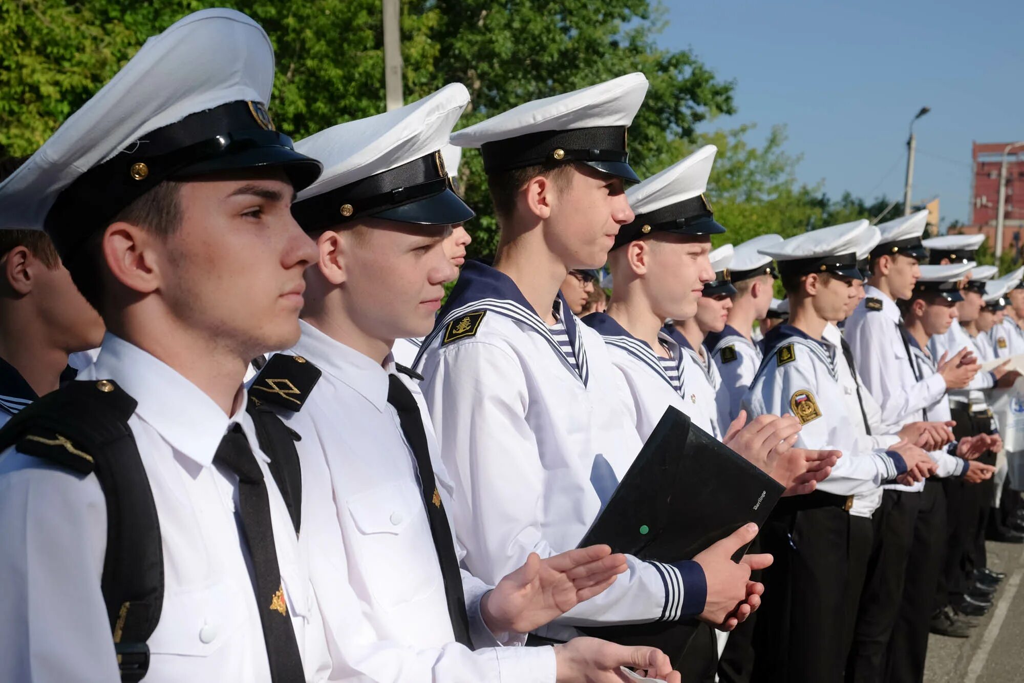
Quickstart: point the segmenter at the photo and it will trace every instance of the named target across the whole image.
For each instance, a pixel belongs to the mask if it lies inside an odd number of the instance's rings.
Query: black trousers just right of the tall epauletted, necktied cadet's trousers
[[[922,683],[928,655],[929,621],[945,553],[946,499],[942,485],[929,479],[914,517],[903,595],[889,641],[886,683]]]

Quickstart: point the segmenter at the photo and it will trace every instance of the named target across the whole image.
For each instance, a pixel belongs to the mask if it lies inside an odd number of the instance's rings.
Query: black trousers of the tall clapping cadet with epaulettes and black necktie
[[[874,531],[846,680],[877,683],[885,677],[886,651],[899,613],[922,494],[886,490],[871,515]],[[935,588],[932,587],[934,594]],[[931,612],[929,612],[931,616]]]

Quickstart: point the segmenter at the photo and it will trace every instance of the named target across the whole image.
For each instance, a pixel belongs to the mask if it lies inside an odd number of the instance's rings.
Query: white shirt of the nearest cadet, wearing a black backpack
[[[213,456],[239,424],[267,482],[278,564],[307,681],[330,657],[308,548],[272,485],[255,428],[228,417],[175,370],[108,333],[81,379],[110,378],[138,402],[129,418],[153,489],[164,556],[164,602],[150,637],[146,683],[270,681],[249,553],[234,508],[238,478]],[[8,448],[0,455],[0,680],[120,681],[99,590],[106,505],[95,475],[81,477]]]

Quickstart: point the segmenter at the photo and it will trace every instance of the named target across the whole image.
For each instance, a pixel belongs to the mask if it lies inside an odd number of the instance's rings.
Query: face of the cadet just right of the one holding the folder
[[[697,314],[705,283],[715,279],[711,238],[707,235],[658,233],[642,240],[645,245],[647,296],[659,318],[689,320]],[[621,248],[630,248],[629,245]]]

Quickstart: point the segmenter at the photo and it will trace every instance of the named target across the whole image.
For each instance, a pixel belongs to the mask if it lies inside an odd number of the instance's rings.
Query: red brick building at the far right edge
[[[971,227],[965,232],[983,232],[995,239],[995,218],[999,205],[999,168],[1008,143],[974,143],[972,158]],[[1004,250],[1024,245],[1024,145],[1007,155],[1007,197],[1002,219]]]

